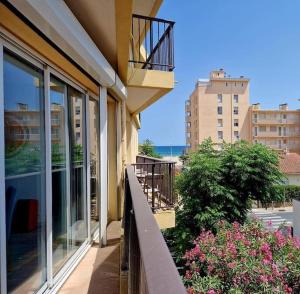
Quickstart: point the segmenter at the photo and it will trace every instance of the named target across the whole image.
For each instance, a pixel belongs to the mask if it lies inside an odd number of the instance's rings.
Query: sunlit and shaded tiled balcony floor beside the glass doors
[[[83,260],[60,289],[60,294],[119,294],[120,222],[108,226],[108,243],[94,243]]]

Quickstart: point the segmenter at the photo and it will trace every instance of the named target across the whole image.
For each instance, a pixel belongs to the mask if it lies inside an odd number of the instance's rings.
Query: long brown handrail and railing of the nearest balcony
[[[186,293],[132,166],[126,168],[123,224],[122,269],[128,270],[128,293]]]

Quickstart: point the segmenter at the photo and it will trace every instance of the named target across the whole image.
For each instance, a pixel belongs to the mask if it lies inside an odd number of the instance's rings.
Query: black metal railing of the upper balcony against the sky
[[[132,15],[132,52],[129,63],[143,69],[173,71],[175,22]]]

